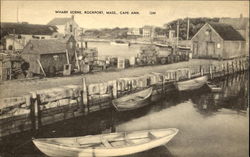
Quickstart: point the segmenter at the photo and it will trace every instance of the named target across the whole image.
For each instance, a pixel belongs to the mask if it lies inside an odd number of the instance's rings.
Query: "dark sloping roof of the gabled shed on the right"
[[[210,22],[208,24],[220,35],[223,40],[245,40],[231,25],[215,22]]]

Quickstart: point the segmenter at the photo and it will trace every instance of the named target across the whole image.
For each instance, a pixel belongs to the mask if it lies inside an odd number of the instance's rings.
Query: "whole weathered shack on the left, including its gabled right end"
[[[22,58],[29,63],[34,74],[54,75],[63,71],[64,65],[75,64],[75,40],[30,40],[22,51]]]

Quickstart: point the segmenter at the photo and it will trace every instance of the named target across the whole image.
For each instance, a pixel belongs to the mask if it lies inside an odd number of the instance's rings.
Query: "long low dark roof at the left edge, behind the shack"
[[[8,34],[52,35],[54,32],[57,32],[55,26],[1,22],[1,38]]]

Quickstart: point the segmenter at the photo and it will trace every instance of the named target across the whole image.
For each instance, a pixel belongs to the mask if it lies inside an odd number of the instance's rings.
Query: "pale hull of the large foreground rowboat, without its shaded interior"
[[[145,134],[152,133],[156,135],[156,139],[149,140],[148,142],[143,142],[142,144],[132,144],[132,145],[124,145],[124,147],[87,147],[87,148],[79,148],[79,147],[73,147],[73,146],[66,146],[66,145],[60,145],[60,144],[53,144],[50,142],[44,142],[43,140],[35,139],[33,140],[33,143],[38,147],[39,150],[41,150],[44,154],[51,156],[51,157],[109,157],[109,156],[122,156],[122,155],[129,155],[134,154],[142,151],[146,151],[161,145],[166,144],[169,142],[177,133],[178,129],[176,128],[169,128],[169,129],[155,129],[155,130],[146,130],[146,131],[136,131],[132,133],[128,133],[128,138],[131,138],[133,141],[133,138],[135,139],[144,137]],[[119,138],[121,138],[120,133],[111,133],[111,136],[115,136],[118,134]],[[123,133],[121,133],[123,134]],[[164,136],[161,136],[161,134],[164,134]],[[94,135],[94,136],[86,136],[86,137],[78,137],[82,138],[82,140],[87,141],[89,138],[97,137],[101,138],[104,135]],[[76,140],[77,138],[60,138],[60,140],[70,140],[69,143],[72,142],[72,140]],[[135,139],[136,141],[136,139]]]

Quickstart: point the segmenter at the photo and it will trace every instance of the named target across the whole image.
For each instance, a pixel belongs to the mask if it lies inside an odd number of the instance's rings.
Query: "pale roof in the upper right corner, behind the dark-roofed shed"
[[[245,30],[248,29],[249,18],[241,17],[241,18],[221,18],[219,20],[220,23],[226,23],[233,26],[236,30]]]

